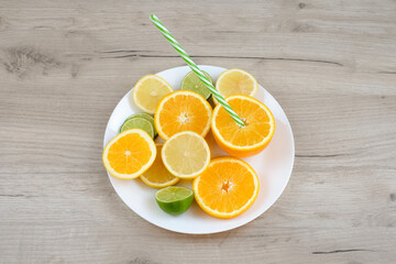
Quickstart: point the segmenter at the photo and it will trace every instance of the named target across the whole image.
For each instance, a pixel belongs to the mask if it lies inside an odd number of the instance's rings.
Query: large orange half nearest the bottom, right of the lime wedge
[[[258,186],[253,168],[235,157],[213,158],[193,182],[199,207],[218,218],[233,218],[248,210],[257,197]]]

